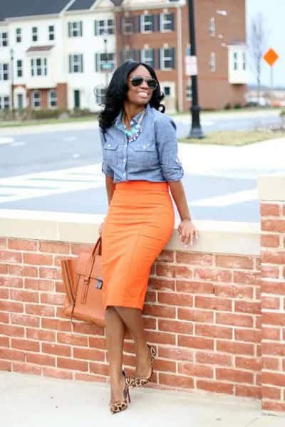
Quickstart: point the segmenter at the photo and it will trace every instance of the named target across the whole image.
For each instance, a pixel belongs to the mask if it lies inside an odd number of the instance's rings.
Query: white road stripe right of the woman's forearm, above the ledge
[[[257,189],[237,191],[235,193],[214,196],[207,199],[192,201],[190,206],[230,206],[244,201],[257,200]]]

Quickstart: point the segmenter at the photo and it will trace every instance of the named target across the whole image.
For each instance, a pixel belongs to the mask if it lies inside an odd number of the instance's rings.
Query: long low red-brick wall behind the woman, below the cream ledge
[[[60,260],[84,245],[0,242],[1,369],[107,381],[104,330],[62,315]],[[148,342],[158,350],[155,384],[261,397],[258,265],[254,256],[162,251],[143,310]]]

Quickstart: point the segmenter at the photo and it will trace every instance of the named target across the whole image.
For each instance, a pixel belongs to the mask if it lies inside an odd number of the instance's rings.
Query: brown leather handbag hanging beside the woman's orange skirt
[[[66,287],[63,314],[78,320],[105,326],[102,298],[102,239],[99,237],[91,252],[77,258],[61,260],[61,275]]]

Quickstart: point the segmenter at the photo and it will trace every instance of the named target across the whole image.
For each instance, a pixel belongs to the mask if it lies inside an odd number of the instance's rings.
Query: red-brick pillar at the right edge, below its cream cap
[[[285,203],[261,204],[262,407],[285,411]]]

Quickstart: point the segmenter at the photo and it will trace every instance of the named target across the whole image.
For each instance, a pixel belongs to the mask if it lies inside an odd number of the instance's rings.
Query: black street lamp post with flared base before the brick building
[[[188,0],[191,56],[196,56],[194,1],[195,0]],[[192,106],[191,106],[192,125],[191,125],[189,137],[204,138],[204,132],[202,131],[202,128],[200,125],[200,117],[199,117],[200,107],[199,107],[199,101],[198,101],[197,75],[192,75],[191,80],[192,80]]]

